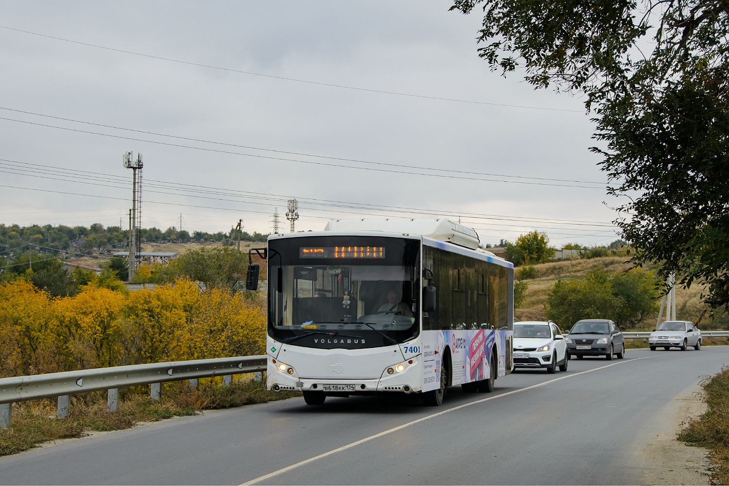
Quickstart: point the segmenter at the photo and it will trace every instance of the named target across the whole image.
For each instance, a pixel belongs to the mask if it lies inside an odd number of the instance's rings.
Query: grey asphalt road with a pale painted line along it
[[[205,412],[0,458],[0,484],[636,484],[632,444],[727,358],[707,346],[572,359],[494,393],[449,388],[437,408],[330,397]]]

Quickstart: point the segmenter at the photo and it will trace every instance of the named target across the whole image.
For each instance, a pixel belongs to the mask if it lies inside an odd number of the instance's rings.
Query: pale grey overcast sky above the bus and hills
[[[288,231],[296,197],[296,230],[617,239],[582,100],[489,71],[450,5],[0,1],[0,222],[126,228],[133,151],[143,227],[266,233],[277,208]]]

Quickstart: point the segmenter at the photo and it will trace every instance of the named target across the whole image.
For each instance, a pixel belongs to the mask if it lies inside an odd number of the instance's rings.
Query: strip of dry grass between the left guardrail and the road
[[[90,431],[117,431],[138,423],[155,422],[175,416],[195,415],[198,410],[240,407],[300,395],[273,392],[255,381],[234,381],[218,386],[220,379],[200,380],[198,389],[187,382],[165,383],[162,401],[152,401],[146,394],[123,391],[116,412],[106,412],[104,393],[71,397],[71,416],[55,418],[53,400],[20,402],[13,406],[10,428],[0,429],[0,455],[10,455],[37,447],[43,442],[71,439]],[[141,388],[141,387],[139,387]],[[146,388],[146,387],[145,387]]]

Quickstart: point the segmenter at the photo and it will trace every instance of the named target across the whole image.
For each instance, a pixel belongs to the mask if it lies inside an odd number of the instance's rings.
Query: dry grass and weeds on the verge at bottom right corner
[[[709,449],[714,485],[729,484],[729,366],[701,382],[706,412],[698,419],[690,418],[678,433],[687,445]]]

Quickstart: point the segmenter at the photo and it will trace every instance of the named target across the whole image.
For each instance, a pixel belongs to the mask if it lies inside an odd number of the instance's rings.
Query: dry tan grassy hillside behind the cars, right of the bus
[[[628,270],[631,264],[623,256],[607,256],[593,259],[575,259],[564,262],[550,262],[534,265],[534,278],[523,279],[529,284],[526,290],[526,298],[518,309],[515,309],[515,321],[544,321],[544,303],[547,295],[554,284],[562,279],[585,278],[594,270],[605,270],[608,273],[617,273]],[[646,267],[645,270],[651,270]],[[515,276],[518,278],[521,268],[515,268]],[[677,318],[696,322],[703,312],[703,305],[700,302],[700,295],[703,286],[693,285],[690,289],[676,289],[676,314]],[[660,304],[660,301],[658,302]],[[665,314],[664,314],[665,315]],[[650,330],[655,327],[658,312],[648,315],[636,330]],[[572,323],[570,323],[572,324]],[[566,324],[562,324],[566,326]],[[720,313],[709,317],[708,313],[701,320],[702,329],[726,329],[729,325],[729,317],[726,313]]]

